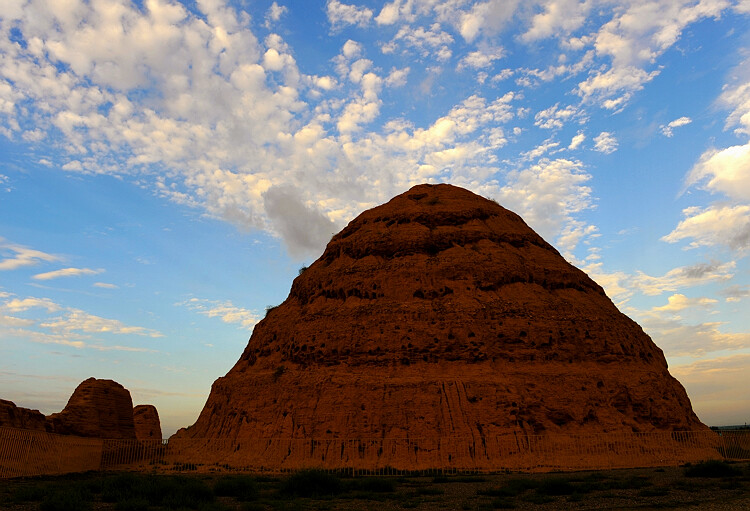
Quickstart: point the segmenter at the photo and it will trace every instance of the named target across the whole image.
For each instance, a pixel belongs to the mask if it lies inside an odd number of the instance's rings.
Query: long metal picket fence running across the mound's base
[[[91,470],[351,474],[602,470],[750,459],[750,432],[106,440],[0,428],[0,478]]]

